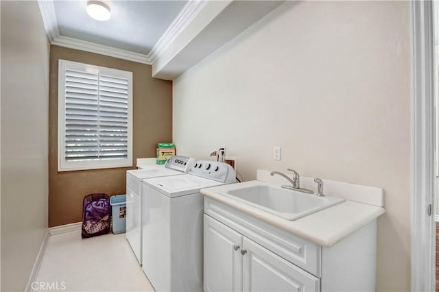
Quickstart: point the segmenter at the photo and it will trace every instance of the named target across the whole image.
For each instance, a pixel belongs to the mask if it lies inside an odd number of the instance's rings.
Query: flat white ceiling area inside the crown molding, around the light
[[[85,0],[54,0],[59,35],[147,55],[187,3],[163,0],[102,2],[110,8],[108,21],[88,16]]]

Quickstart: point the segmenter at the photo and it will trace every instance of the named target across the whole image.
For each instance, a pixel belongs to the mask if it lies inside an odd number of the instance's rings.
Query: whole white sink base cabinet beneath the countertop
[[[375,291],[376,220],[322,247],[204,198],[204,291]]]

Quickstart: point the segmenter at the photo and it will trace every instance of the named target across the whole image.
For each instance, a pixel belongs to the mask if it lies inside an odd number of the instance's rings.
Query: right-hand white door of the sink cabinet
[[[319,291],[320,280],[244,237],[244,291]]]

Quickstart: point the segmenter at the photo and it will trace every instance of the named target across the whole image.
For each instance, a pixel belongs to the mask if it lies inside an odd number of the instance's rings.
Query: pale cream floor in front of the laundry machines
[[[59,289],[64,282],[63,291],[154,291],[125,234],[81,239],[80,230],[49,237],[36,282]]]

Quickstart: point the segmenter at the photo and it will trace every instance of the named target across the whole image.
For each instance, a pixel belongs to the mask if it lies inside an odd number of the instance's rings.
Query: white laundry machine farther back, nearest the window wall
[[[145,169],[126,172],[126,239],[140,264],[142,264],[142,180],[144,178],[182,175],[187,173],[194,163],[193,158],[172,156],[164,166],[147,165]]]

